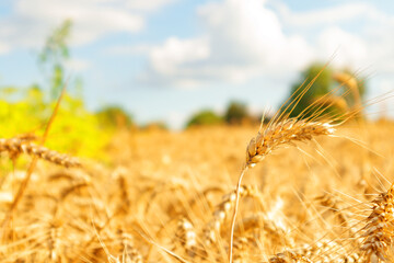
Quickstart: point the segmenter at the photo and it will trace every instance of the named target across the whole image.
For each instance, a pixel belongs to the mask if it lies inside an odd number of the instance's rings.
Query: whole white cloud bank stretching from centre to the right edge
[[[333,64],[339,67],[375,62],[389,70],[394,65],[394,56],[387,57],[394,55],[394,37],[387,34],[394,18],[368,3],[293,12],[264,0],[221,0],[199,7],[197,18],[205,26],[200,36],[170,37],[148,49],[140,83],[189,88],[255,77],[287,79],[335,54]]]

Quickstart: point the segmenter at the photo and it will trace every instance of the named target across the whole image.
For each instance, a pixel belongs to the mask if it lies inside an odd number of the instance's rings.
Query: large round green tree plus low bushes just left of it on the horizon
[[[354,110],[360,112],[366,93],[366,79],[355,77],[350,69],[313,62],[290,87],[279,111],[289,117],[298,118],[311,117],[315,111],[320,111],[321,115],[340,116]],[[186,127],[256,123],[262,121],[262,116],[263,113],[258,116],[252,115],[245,103],[233,101],[223,115],[212,110],[197,112],[189,118]],[[269,117],[265,115],[265,121],[269,121]]]

